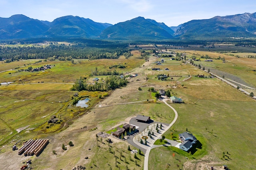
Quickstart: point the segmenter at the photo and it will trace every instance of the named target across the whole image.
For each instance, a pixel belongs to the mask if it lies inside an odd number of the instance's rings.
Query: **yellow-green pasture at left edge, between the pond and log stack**
[[[6,140],[12,138],[23,128],[34,129],[38,127],[38,125],[47,121],[52,113],[56,113],[62,107],[61,104],[52,102],[6,98],[2,96],[0,96],[0,99],[2,101],[0,111],[0,135],[2,140],[0,144],[5,143]],[[5,127],[2,127],[2,124]],[[6,127],[8,128],[2,129]]]

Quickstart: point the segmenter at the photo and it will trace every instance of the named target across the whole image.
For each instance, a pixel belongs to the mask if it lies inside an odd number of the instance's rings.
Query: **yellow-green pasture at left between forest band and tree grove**
[[[15,62],[13,62],[15,63]],[[0,74],[1,82],[15,82],[15,84],[22,83],[37,83],[37,82],[59,82],[59,83],[74,83],[77,78],[88,77],[96,68],[98,72],[116,70],[118,72],[130,72],[134,67],[140,66],[144,60],[138,59],[136,55],[125,59],[121,56],[120,59],[101,59],[101,60],[80,60],[80,63],[72,64],[71,61],[46,61],[31,65],[32,68],[44,66],[46,64],[52,65],[51,69],[38,72],[9,72]],[[8,64],[8,63],[4,63]],[[126,68],[109,68],[113,65],[122,64]],[[24,67],[27,69],[29,66]],[[9,67],[11,69],[11,67]]]

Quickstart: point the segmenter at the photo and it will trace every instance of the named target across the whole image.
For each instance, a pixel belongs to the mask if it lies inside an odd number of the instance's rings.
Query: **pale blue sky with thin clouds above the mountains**
[[[53,21],[72,15],[116,24],[138,16],[177,26],[190,20],[256,12],[256,0],[0,0],[0,17]]]

